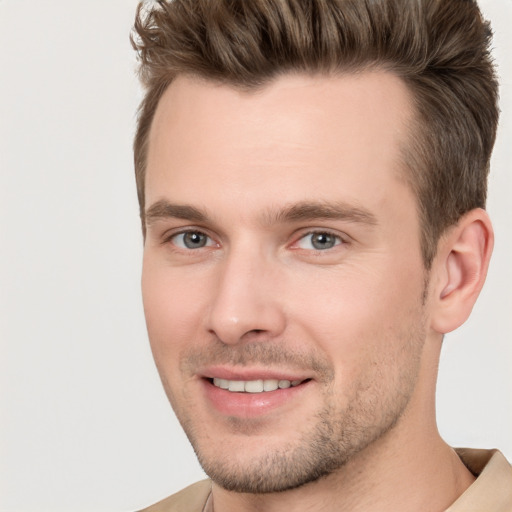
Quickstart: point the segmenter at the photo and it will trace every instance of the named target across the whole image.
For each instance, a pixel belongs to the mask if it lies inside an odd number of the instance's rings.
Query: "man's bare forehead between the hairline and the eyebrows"
[[[199,191],[243,196],[247,207],[284,192],[289,201],[382,196],[384,182],[402,185],[410,113],[405,84],[383,71],[286,75],[252,91],[180,76],[151,128],[146,204],[194,204]]]

